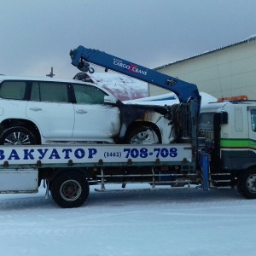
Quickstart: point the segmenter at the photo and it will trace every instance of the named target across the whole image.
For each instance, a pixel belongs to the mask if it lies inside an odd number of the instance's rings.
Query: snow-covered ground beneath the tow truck
[[[75,209],[0,195],[0,255],[255,255],[256,200],[236,190],[90,189]]]

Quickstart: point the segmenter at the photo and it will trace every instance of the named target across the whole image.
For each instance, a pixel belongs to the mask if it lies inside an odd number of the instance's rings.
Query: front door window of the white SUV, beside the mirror
[[[73,84],[78,104],[104,104],[106,93],[91,85]]]

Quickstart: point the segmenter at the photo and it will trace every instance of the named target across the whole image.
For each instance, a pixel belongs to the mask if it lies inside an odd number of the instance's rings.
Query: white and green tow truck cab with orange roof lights
[[[209,103],[201,107],[199,136],[211,154],[212,183],[236,185],[252,182],[256,192],[256,102],[239,100]],[[255,180],[254,180],[255,179]]]

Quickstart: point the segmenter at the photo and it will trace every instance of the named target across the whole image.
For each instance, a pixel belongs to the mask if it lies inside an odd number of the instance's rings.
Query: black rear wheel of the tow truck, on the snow
[[[80,207],[89,195],[89,184],[78,172],[62,172],[55,177],[50,193],[57,205],[63,208]]]

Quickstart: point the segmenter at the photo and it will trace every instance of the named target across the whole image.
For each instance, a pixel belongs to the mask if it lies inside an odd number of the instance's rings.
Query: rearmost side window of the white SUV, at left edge
[[[4,81],[0,88],[0,97],[3,99],[25,100],[25,81]]]

